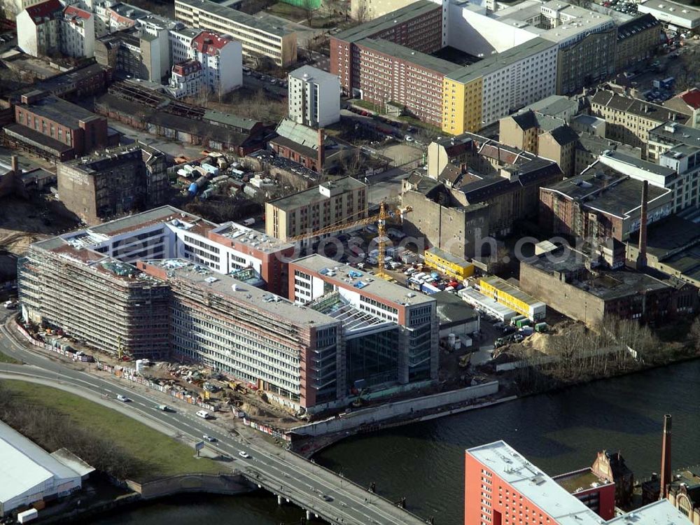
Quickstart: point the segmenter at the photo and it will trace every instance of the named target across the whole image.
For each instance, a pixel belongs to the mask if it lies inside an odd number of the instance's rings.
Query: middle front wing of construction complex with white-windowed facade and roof
[[[340,321],[187,260],[137,265],[171,290],[174,356],[242,379],[294,412],[337,399],[335,374],[331,388],[323,381],[342,355]]]

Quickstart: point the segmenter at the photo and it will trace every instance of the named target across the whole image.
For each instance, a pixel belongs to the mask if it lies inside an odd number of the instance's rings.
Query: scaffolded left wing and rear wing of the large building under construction
[[[163,359],[169,289],[137,261],[186,258],[220,274],[251,269],[253,282],[284,293],[293,249],[236,223],[160,207],[32,244],[19,262],[22,316],[102,351]]]

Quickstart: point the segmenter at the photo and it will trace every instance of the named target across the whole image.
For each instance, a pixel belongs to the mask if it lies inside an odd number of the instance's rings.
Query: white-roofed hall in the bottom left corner
[[[0,518],[79,491],[92,471],[70,451],[49,454],[0,421]]]

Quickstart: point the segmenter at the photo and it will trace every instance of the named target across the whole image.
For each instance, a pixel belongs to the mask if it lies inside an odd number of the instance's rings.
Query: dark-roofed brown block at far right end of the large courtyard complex
[[[650,14],[638,15],[617,27],[615,71],[643,64],[659,48],[661,22]]]

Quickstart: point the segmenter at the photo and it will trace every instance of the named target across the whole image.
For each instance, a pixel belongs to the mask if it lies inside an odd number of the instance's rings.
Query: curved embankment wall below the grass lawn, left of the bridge
[[[207,492],[216,494],[240,494],[251,491],[251,486],[239,474],[235,475],[182,475],[138,483],[127,479],[127,486],[141,494],[143,499],[172,496],[183,492]]]

